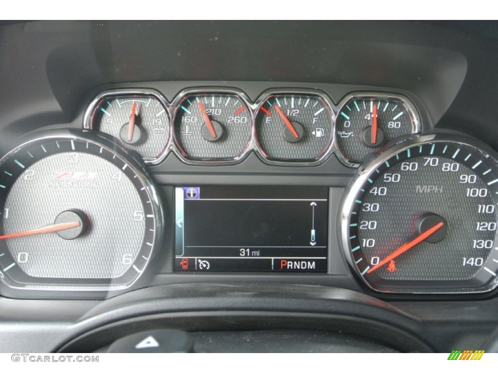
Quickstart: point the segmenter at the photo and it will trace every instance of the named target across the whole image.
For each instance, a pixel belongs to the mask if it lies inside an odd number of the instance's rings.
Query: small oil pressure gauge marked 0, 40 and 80
[[[339,158],[360,164],[396,137],[420,131],[411,103],[401,96],[359,94],[347,98],[336,119]]]

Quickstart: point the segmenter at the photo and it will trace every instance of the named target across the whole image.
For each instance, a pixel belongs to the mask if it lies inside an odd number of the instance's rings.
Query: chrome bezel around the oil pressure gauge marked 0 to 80
[[[337,131],[337,118],[339,117],[339,113],[344,109],[345,105],[350,101],[351,99],[358,98],[358,99],[364,99],[364,98],[376,98],[376,99],[396,99],[400,100],[403,102],[403,104],[406,106],[408,109],[408,114],[410,115],[410,119],[412,122],[412,131],[411,134],[416,134],[420,133],[422,130],[422,125],[420,122],[420,115],[413,104],[413,102],[406,96],[398,93],[386,93],[386,92],[352,92],[343,97],[343,99],[339,102],[337,105],[337,116],[336,119],[334,120],[334,136],[336,135]],[[409,134],[407,134],[409,135]],[[335,137],[336,138],[336,137]],[[334,141],[334,148],[333,152],[337,156],[337,158],[343,163],[345,166],[348,167],[359,167],[362,162],[350,162],[342,153],[339,143],[336,140]]]

